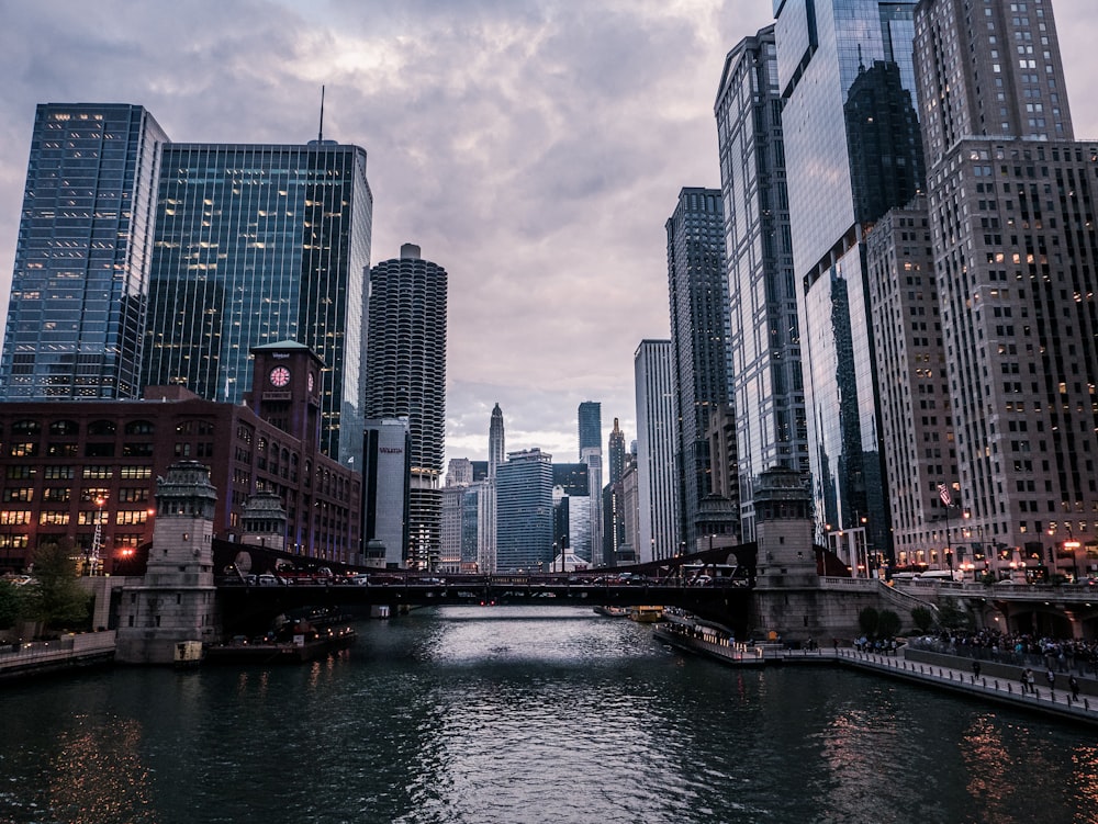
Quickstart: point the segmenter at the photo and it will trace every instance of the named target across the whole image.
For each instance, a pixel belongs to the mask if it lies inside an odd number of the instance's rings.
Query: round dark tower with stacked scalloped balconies
[[[370,272],[366,410],[407,416],[412,439],[408,557],[430,568],[440,546],[446,432],[446,270],[405,244]]]

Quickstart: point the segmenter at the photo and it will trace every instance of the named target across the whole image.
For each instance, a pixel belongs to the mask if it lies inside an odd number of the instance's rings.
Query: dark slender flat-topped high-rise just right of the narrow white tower
[[[706,431],[715,407],[729,404],[728,278],[720,192],[683,189],[668,219],[668,286],[679,444],[682,540],[698,538],[702,500],[713,492]]]

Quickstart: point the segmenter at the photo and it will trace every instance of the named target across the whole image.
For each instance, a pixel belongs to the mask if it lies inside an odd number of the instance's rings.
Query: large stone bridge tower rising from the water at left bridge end
[[[115,657],[171,664],[186,642],[214,640],[213,520],[209,467],[181,461],[156,479],[156,527],[145,577],[122,590]],[[193,645],[190,645],[193,648]]]

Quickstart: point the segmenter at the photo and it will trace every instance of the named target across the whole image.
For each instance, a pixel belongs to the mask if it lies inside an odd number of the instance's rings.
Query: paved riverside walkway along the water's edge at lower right
[[[787,659],[794,661],[800,657],[800,654],[796,654],[788,656]],[[976,678],[971,670],[907,661],[903,648],[896,655],[878,655],[842,647],[822,651],[820,657],[825,661],[829,658],[837,661],[844,666],[948,689],[979,700],[1098,725],[1098,700],[1094,696],[1079,696],[1078,701],[1073,701],[1066,684],[1054,690],[1050,690],[1046,685],[1038,686],[1033,693],[1027,695],[1021,692],[1021,685],[1017,680],[988,676]],[[971,666],[970,661],[962,661]]]

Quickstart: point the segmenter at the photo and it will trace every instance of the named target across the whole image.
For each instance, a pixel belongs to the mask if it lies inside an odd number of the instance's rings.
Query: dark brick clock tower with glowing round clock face
[[[251,391],[245,393],[244,403],[300,440],[303,449],[320,449],[324,362],[293,340],[253,347],[251,355]]]

